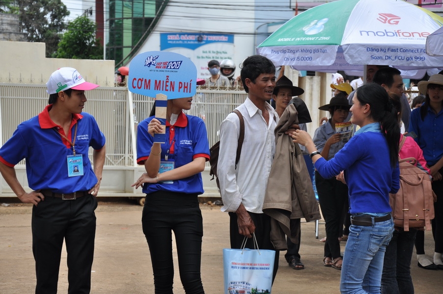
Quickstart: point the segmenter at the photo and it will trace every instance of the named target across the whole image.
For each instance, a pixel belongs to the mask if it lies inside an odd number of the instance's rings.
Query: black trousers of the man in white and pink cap
[[[37,275],[36,294],[57,293],[63,240],[68,253],[68,294],[88,294],[97,208],[95,196],[75,200],[45,197],[32,208],[32,251]]]

